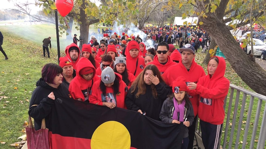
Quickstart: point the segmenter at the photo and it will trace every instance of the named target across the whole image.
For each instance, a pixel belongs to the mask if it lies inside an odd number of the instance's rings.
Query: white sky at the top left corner
[[[8,2],[7,0],[1,0],[0,10],[16,8],[14,6],[14,3],[16,3],[16,2],[17,3],[25,3],[27,1],[29,3],[34,3],[35,4],[35,0],[10,0],[10,2]],[[33,14],[35,14],[39,10],[41,10],[41,8],[39,8],[39,6],[35,6],[34,4],[30,5],[31,13],[33,13]]]

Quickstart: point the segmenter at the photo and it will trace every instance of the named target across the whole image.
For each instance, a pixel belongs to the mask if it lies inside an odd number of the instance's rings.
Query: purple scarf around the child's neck
[[[173,100],[174,100],[174,107],[175,107],[175,110],[174,110],[174,113],[173,113],[173,119],[177,120],[178,112],[179,112],[179,120],[178,121],[179,122],[184,122],[184,112],[185,112],[186,101],[182,100],[181,104],[178,104],[175,97],[173,97]]]

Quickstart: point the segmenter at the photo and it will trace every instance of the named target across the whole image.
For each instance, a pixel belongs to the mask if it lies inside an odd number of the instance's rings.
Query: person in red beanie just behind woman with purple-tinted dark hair
[[[76,76],[76,70],[73,69],[72,62],[70,62],[67,57],[59,58],[59,66],[63,69],[62,85],[66,86],[66,88],[69,88],[70,82]]]

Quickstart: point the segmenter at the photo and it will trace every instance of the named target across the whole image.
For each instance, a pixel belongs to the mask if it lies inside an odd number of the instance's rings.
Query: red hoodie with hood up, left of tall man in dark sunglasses
[[[139,75],[139,73],[142,72],[142,70],[144,69],[145,67],[145,62],[144,62],[144,58],[143,57],[131,57],[130,54],[129,54],[129,50],[131,49],[138,49],[139,50],[139,44],[137,41],[129,41],[128,44],[127,44],[127,48],[126,48],[126,51],[125,51],[125,54],[126,54],[126,58],[127,58],[127,69],[130,70],[131,73],[135,73],[135,77],[137,77]],[[137,64],[138,62],[138,64]]]

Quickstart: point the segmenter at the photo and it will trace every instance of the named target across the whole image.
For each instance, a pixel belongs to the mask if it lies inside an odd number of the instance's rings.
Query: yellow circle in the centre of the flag
[[[91,149],[130,149],[131,138],[127,128],[117,122],[101,124],[91,137]]]

